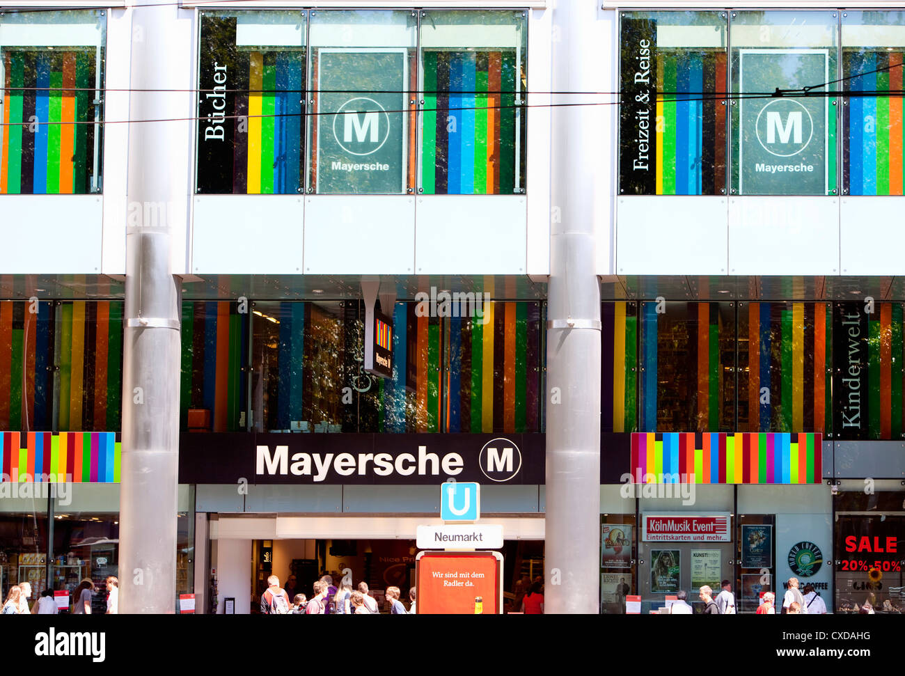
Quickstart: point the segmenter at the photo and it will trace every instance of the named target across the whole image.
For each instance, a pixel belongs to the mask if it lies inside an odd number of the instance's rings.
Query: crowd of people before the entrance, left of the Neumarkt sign
[[[267,589],[261,595],[261,613],[272,614],[305,614],[305,615],[368,615],[380,614],[380,608],[374,596],[370,594],[367,582],[359,582],[357,589],[351,585],[333,584],[333,577],[325,575],[312,585],[313,594],[309,598],[305,594],[291,595],[280,586],[280,578],[271,575],[267,578]],[[295,577],[287,581],[287,587],[294,591]],[[391,586],[385,592],[386,602],[390,606],[389,614],[405,615],[416,613],[416,591],[412,587],[408,592],[409,609],[400,598],[399,587]]]

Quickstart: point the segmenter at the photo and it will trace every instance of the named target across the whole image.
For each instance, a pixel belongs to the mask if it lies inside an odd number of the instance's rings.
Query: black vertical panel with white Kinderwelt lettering
[[[870,420],[868,340],[870,315],[863,302],[833,310],[833,431],[837,439],[867,439]]]

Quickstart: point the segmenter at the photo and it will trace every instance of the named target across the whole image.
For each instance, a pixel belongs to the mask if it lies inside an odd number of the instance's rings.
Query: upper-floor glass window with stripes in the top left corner
[[[0,16],[0,194],[100,193],[103,12]]]

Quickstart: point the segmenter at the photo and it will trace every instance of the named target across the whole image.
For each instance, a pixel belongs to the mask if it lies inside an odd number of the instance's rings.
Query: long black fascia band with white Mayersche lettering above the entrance
[[[543,484],[545,434],[184,433],[179,482]],[[627,471],[629,434],[605,434],[601,483]]]

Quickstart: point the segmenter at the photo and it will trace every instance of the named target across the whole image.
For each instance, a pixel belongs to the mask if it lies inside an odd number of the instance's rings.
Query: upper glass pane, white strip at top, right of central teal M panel
[[[425,195],[525,192],[524,12],[422,12]]]

